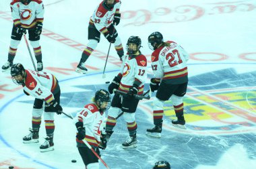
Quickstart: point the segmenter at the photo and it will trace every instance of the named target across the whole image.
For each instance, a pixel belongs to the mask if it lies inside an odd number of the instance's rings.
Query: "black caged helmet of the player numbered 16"
[[[100,90],[96,91],[94,101],[98,105],[98,107],[100,107],[104,101],[110,103],[111,97],[110,97],[110,94],[108,93],[108,91],[106,91],[104,89],[100,89]],[[108,104],[108,105],[110,106],[110,104]],[[109,106],[106,107],[106,109],[108,109]],[[101,109],[101,111],[106,111],[106,109]]]

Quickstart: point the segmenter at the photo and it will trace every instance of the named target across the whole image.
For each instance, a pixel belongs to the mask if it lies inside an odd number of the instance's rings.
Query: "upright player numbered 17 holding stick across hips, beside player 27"
[[[108,91],[112,94],[114,89],[119,89],[127,92],[127,95],[115,93],[106,120],[106,135],[109,139],[117,123],[117,116],[123,112],[129,137],[122,145],[123,148],[135,148],[137,147],[135,111],[139,100],[133,95],[143,94],[144,82],[147,78],[147,59],[139,50],[141,39],[138,36],[131,36],[126,48],[127,54],[123,58],[121,71],[108,86]]]

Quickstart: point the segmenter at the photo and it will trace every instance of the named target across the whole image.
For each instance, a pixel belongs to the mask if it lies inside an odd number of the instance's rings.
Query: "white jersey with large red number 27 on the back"
[[[168,41],[170,46],[156,49],[151,56],[152,70],[157,80],[169,80],[172,84],[187,82],[189,54],[179,44]]]

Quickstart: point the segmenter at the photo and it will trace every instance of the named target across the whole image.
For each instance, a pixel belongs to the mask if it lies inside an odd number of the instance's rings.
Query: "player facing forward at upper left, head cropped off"
[[[11,16],[13,27],[11,31],[11,43],[9,46],[8,61],[2,66],[2,71],[9,70],[13,65],[22,35],[28,30],[30,44],[34,49],[37,61],[37,70],[41,71],[42,51],[39,44],[44,20],[44,5],[41,0],[13,0],[11,1]]]

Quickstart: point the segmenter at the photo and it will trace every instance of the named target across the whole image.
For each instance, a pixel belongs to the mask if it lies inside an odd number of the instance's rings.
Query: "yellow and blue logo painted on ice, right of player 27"
[[[184,98],[189,131],[181,129],[179,132],[234,134],[253,131],[256,123],[255,76],[256,72],[237,74],[230,68],[189,78]],[[164,114],[165,118],[176,118],[171,101],[164,104]],[[173,131],[172,127],[167,128]]]

